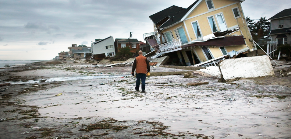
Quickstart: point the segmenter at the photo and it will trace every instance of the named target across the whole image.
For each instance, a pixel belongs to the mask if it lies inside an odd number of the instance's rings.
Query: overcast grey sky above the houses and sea
[[[143,40],[153,32],[149,16],[195,0],[0,0],[0,59],[50,60],[71,44],[90,46],[108,36]],[[245,16],[270,18],[290,0],[246,0]]]

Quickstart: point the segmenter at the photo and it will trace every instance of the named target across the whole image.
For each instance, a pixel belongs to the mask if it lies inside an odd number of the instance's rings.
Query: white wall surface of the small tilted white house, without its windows
[[[113,45],[113,48],[106,49],[105,46],[109,46],[109,45]],[[106,40],[103,40],[99,43],[92,45],[92,50],[93,50],[93,54],[105,54],[107,56],[107,53],[114,52],[114,55],[115,55],[116,53],[114,49],[113,37],[110,37]]]

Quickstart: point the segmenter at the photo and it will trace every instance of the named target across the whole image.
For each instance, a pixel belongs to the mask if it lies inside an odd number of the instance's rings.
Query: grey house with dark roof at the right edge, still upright
[[[291,44],[291,9],[285,9],[269,19],[271,21],[271,51],[279,44]],[[270,51],[270,52],[271,52]]]

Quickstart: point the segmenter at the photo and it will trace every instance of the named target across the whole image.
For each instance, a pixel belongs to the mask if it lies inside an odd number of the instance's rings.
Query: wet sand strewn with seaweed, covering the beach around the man
[[[219,83],[202,74],[197,78],[152,76],[146,79],[146,93],[141,93],[134,90],[135,78],[124,77],[131,67],[90,67],[58,64],[29,71],[28,67],[17,72],[1,69],[1,80],[121,75],[1,87],[8,88],[0,99],[0,115],[7,119],[1,121],[1,137],[291,138],[290,82],[268,84],[262,78]],[[209,84],[187,86],[188,82]],[[41,128],[30,129],[34,127]]]

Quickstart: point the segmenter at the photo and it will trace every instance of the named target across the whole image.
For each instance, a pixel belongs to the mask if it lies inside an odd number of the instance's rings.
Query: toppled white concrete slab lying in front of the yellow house
[[[274,76],[273,67],[267,55],[226,59],[219,64],[222,78],[232,82],[241,78]]]

